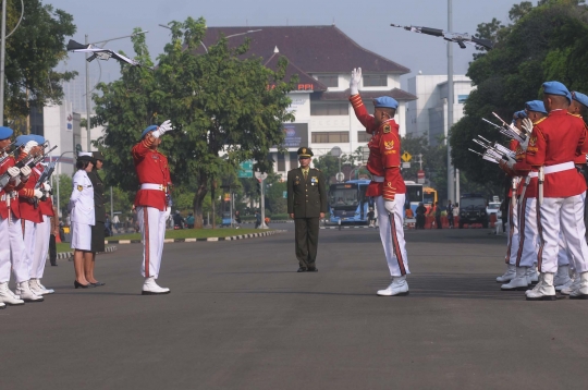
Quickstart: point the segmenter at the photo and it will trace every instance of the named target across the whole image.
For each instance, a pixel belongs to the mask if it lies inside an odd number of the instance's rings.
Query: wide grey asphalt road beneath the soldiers
[[[99,256],[103,288],[0,310],[1,389],[585,389],[588,303],[501,292],[505,237],[408,231],[406,297],[371,229],[321,230],[319,272],[287,233],[167,244],[142,296],[140,245]]]

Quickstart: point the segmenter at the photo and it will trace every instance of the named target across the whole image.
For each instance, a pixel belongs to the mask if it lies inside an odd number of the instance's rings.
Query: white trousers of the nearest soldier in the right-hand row
[[[539,207],[539,253],[537,260],[541,272],[558,271],[560,231],[567,244],[569,258],[577,272],[588,271],[588,245],[584,224],[585,194],[565,198],[544,198]]]

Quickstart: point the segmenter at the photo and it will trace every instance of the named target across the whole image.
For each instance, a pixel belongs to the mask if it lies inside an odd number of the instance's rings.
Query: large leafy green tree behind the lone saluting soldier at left
[[[124,66],[120,81],[99,85],[98,123],[106,126],[100,143],[107,147],[107,161],[119,168],[107,181],[136,188],[134,174],[128,174],[130,148],[148,124],[171,119],[174,131],[164,136],[162,151],[172,179],[196,186],[193,205],[196,227],[201,227],[205,196],[215,191],[213,183],[220,185],[219,178],[248,159],[256,160],[260,171],[271,170],[269,149],[283,143],[282,123],[294,120],[286,94],[296,81],[284,81],[285,58],[271,70],[259,58],[247,57],[248,40],[230,48],[221,37],[206,54],[197,54],[206,33],[204,19],[169,26],[171,41],[155,71]],[[136,59],[150,64],[145,38],[133,40]]]

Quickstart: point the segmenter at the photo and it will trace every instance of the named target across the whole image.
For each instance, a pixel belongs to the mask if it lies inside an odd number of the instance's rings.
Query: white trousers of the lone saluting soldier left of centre
[[[143,235],[143,264],[140,275],[145,278],[159,276],[163,240],[166,239],[166,219],[168,212],[155,207],[137,207],[137,220]]]

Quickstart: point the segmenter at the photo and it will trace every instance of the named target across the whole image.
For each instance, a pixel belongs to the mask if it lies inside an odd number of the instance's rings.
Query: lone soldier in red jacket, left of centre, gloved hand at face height
[[[135,196],[137,219],[143,234],[143,295],[168,294],[170,289],[156,283],[163,253],[166,220],[170,215],[170,169],[168,158],[157,150],[161,135],[172,130],[170,121],[143,131],[142,141],[133,147],[133,160],[140,183]]]

